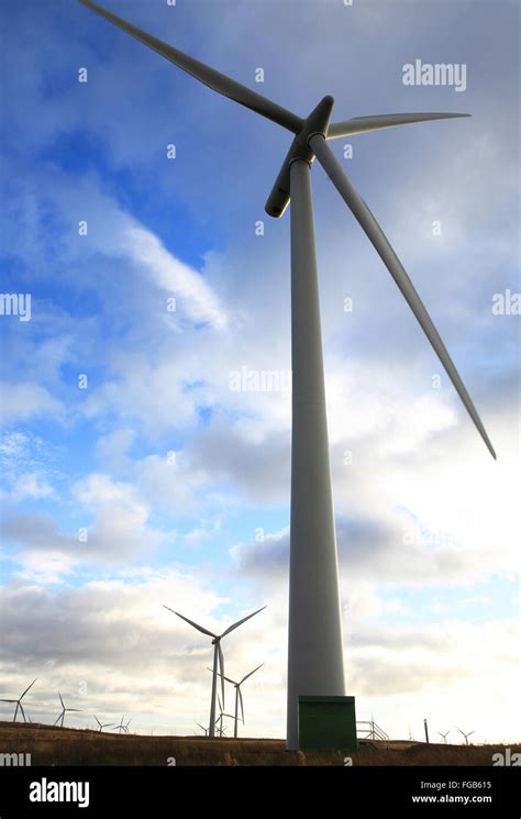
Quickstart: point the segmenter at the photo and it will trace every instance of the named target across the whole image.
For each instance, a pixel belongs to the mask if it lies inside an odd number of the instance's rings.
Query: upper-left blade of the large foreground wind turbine
[[[228,97],[229,99],[234,100],[234,102],[239,102],[241,106],[250,108],[252,111],[266,117],[278,125],[288,129],[288,131],[291,131],[293,134],[298,133],[302,128],[303,120],[300,117],[291,113],[291,111],[287,111],[285,108],[281,108],[281,106],[277,106],[276,102],[252,91],[250,88],[246,88],[246,86],[242,86],[240,82],[231,79],[231,77],[226,77],[224,74],[215,71],[213,68],[204,65],[204,63],[193,59],[193,57],[174,48],[171,45],[157,40],[157,37],[152,36],[152,34],[147,34],[141,29],[137,29],[135,25],[128,23],[126,20],[123,20],[122,18],[112,14],[110,11],[107,11],[101,5],[98,5],[98,3],[95,3],[91,0],[80,0],[80,2],[84,5],[87,5],[88,9],[91,9],[91,11],[96,11],[97,14],[100,14],[100,16],[122,29],[128,34],[131,34],[131,36],[135,37],[141,43],[144,43],[149,48],[157,52],[157,54],[160,54],[162,57],[165,57],[170,63],[174,63],[174,65],[182,68],[182,70],[190,74],[200,82],[203,82],[203,85],[208,86],[213,91],[222,93],[223,97]]]

